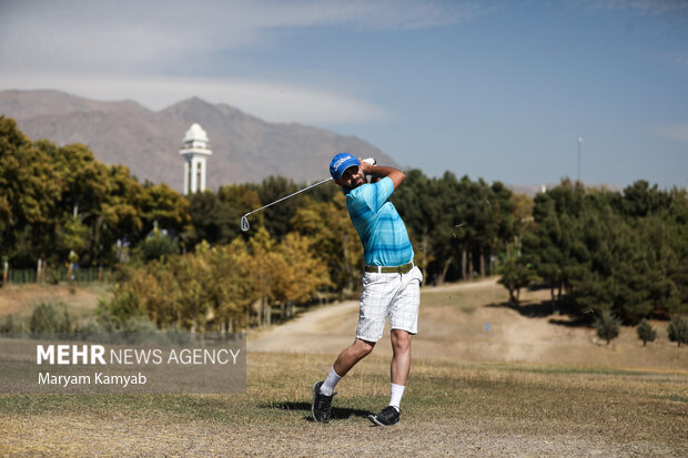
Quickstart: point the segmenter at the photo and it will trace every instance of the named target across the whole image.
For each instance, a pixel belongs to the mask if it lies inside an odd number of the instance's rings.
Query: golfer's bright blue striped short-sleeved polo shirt
[[[408,232],[396,208],[388,201],[394,192],[392,179],[344,189],[346,207],[363,243],[366,265],[397,266],[413,261]]]

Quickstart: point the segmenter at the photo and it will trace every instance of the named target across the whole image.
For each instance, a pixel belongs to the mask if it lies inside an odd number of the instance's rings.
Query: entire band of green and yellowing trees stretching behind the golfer
[[[241,215],[304,185],[270,176],[183,196],[84,145],[32,142],[0,116],[0,256],[13,267],[117,268],[114,299],[101,304],[114,326],[127,316],[194,329],[266,324],[273,307],[285,317],[360,287],[361,243],[333,183],[240,230]],[[542,282],[555,307],[579,314],[637,322],[686,312],[685,190],[640,181],[619,193],[565,180],[533,200],[500,182],[412,170],[392,201],[426,284],[499,272],[514,302]]]

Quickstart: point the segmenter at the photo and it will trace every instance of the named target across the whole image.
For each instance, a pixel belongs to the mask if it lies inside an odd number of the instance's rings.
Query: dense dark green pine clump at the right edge
[[[623,192],[563,181],[535,196],[533,220],[500,279],[536,279],[554,308],[626,324],[688,313],[688,194],[637,181]],[[515,299],[512,294],[512,299]]]

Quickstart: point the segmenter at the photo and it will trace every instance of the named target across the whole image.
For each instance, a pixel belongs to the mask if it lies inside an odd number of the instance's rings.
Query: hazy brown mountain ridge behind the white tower
[[[297,182],[326,177],[336,152],[375,156],[396,166],[377,147],[355,136],[296,123],[276,124],[226,104],[193,98],[153,112],[132,101],[99,102],[59,91],[0,91],[0,114],[13,118],[31,140],[84,143],[107,164],[124,164],[139,180],[183,185],[179,155],[189,126],[208,132],[213,155],[208,185],[257,183],[269,175]]]

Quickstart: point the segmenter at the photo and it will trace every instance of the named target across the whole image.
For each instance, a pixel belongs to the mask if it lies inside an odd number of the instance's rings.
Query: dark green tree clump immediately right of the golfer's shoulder
[[[446,172],[428,179],[407,173],[392,201],[408,228],[426,281],[444,283],[486,275],[492,261],[515,241],[516,203],[502,183],[488,185]]]

